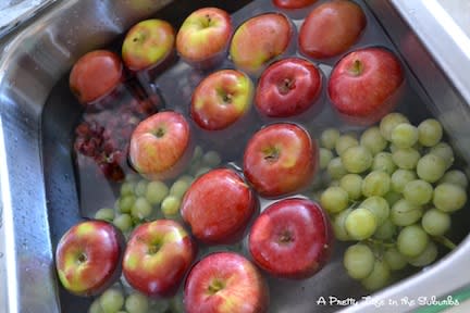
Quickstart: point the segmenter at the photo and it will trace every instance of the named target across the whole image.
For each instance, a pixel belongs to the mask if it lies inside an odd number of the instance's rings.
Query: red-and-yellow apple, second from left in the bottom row
[[[123,274],[132,287],[149,297],[171,297],[196,254],[195,242],[180,223],[172,220],[144,223],[128,239]]]

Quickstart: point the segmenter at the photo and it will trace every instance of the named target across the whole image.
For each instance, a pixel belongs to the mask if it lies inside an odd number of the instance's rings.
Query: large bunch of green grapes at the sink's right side
[[[335,236],[356,241],[344,255],[350,277],[369,290],[391,283],[392,271],[437,258],[450,214],[467,202],[468,179],[436,120],[418,126],[400,113],[361,134],[329,128],[320,138],[320,167],[331,181],[319,201]]]

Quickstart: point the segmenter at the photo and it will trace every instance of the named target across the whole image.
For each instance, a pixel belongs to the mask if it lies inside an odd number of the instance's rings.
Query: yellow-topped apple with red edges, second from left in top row
[[[124,64],[137,72],[164,65],[174,55],[175,32],[166,21],[145,20],[127,32],[122,45]]]

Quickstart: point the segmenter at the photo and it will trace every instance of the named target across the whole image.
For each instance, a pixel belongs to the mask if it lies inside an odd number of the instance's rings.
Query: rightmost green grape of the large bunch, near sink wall
[[[460,210],[466,202],[467,192],[458,185],[444,183],[434,188],[433,204],[443,212]]]

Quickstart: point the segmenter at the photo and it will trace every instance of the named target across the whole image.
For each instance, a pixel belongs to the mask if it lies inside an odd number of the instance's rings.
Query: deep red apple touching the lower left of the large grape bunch
[[[325,212],[302,198],[269,205],[251,226],[248,248],[269,274],[292,279],[313,276],[330,259],[333,233]]]

